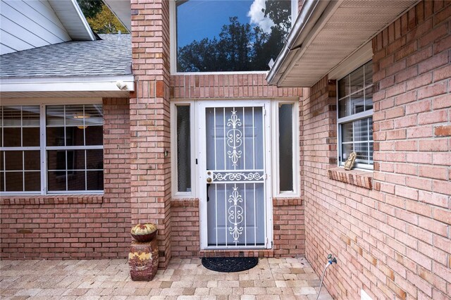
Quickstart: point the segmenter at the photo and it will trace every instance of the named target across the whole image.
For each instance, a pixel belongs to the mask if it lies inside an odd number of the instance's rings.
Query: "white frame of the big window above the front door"
[[[176,7],[175,1],[183,1],[183,0],[169,0],[169,41],[170,41],[170,65],[171,65],[171,75],[211,75],[211,74],[266,74],[268,71],[224,71],[224,72],[178,72],[177,71],[177,16],[176,16]],[[299,0],[290,0],[291,1],[291,27],[295,24],[297,15],[299,12],[297,11],[297,7],[299,5]],[[281,50],[281,49],[280,49]],[[276,57],[273,58],[276,60]]]

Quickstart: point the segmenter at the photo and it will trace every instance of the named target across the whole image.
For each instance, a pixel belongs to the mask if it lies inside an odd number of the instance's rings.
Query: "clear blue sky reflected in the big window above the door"
[[[258,1],[258,0],[256,0]],[[247,16],[252,0],[190,0],[177,8],[177,45],[185,46],[194,39],[218,37],[229,17],[238,17],[240,23],[249,23]],[[263,1],[264,3],[264,1]]]

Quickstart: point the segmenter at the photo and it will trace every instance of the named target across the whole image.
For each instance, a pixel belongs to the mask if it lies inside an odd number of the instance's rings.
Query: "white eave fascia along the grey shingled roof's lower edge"
[[[121,88],[122,89],[121,89]],[[132,75],[105,77],[1,78],[0,98],[41,96],[129,97],[135,91]]]

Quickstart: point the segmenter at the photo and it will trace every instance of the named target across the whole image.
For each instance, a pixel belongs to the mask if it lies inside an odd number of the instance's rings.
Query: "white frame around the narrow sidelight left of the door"
[[[190,106],[190,151],[191,151],[191,192],[178,192],[178,168],[177,168],[177,106]],[[197,132],[195,126],[194,101],[180,100],[171,101],[171,186],[172,197],[175,199],[194,198],[197,196],[197,164],[196,164],[196,144]]]

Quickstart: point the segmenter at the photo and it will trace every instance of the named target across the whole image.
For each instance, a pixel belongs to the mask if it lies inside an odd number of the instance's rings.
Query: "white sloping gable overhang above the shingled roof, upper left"
[[[79,41],[95,41],[96,37],[87,23],[76,0],[49,0],[51,8],[63,23],[70,38]]]

